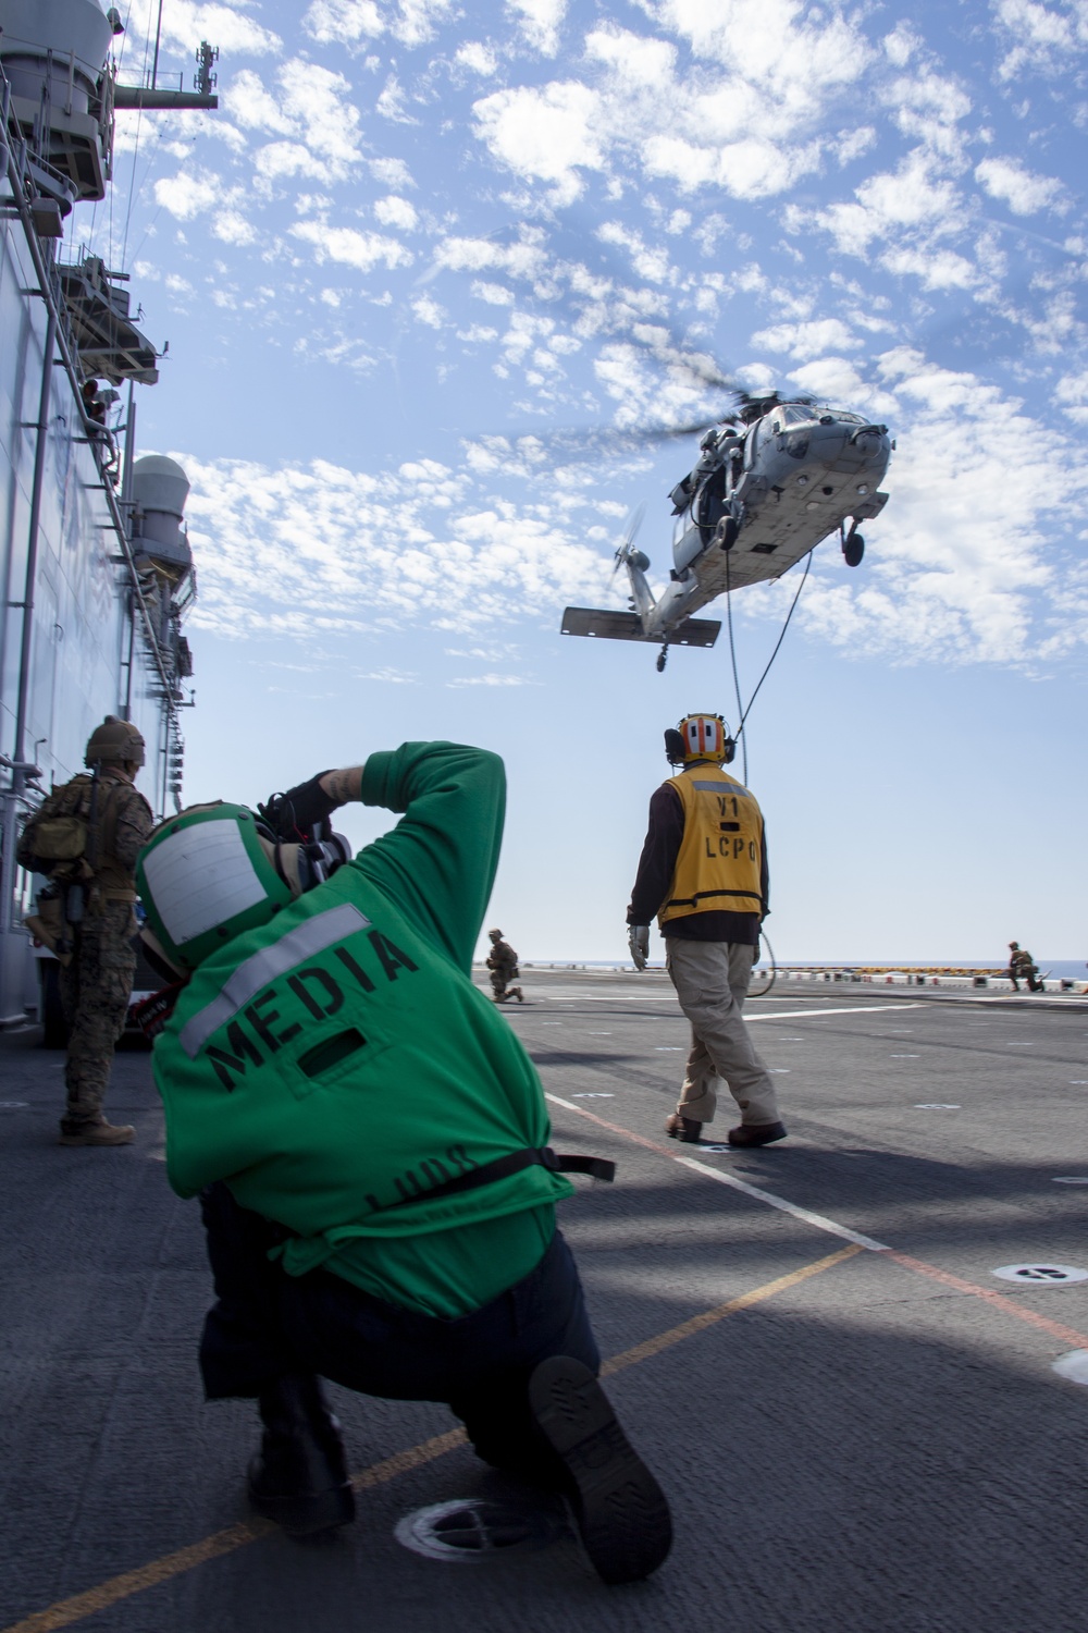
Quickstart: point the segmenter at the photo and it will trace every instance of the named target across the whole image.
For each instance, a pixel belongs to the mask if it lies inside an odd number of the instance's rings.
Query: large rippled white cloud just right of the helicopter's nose
[[[884,482],[891,498],[865,526],[856,572],[817,552],[803,625],[848,655],[900,663],[1031,668],[1088,640],[1083,606],[1068,593],[1075,563],[1052,537],[1055,518],[1083,503],[1088,475],[1055,462],[1054,431],[997,387],[909,348],[886,353],[881,374],[899,397],[899,451]],[[998,421],[995,443],[987,433]],[[1018,449],[1011,485],[1010,444]],[[778,611],[788,588],[785,580],[757,590],[749,614]]]

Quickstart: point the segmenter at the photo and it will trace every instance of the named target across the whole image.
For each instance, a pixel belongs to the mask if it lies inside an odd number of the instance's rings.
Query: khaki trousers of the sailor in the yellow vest
[[[742,1124],[778,1122],[775,1084],[744,1024],[744,999],[755,947],[729,941],[666,937],[666,968],[692,1022],[677,1110],[693,1122],[713,1122],[718,1079],[741,1107]]]

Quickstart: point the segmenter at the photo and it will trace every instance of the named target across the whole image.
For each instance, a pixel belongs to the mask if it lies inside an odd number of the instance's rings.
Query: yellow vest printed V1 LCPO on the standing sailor
[[[683,805],[683,839],[657,923],[690,913],[762,913],[763,816],[755,797],[719,766],[692,766],[669,785]]]

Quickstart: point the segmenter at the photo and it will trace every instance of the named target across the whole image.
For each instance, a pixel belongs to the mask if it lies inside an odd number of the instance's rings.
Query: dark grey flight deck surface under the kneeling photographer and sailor
[[[7,1034],[0,1633],[1080,1633],[1088,1388],[1052,1362],[1088,1350],[1088,1282],[992,1272],[1088,1269],[1088,1184],[1055,1182],[1088,1181],[1088,1004],[780,986],[750,1014],[789,1140],[714,1153],[662,1135],[687,1039],[664,977],[525,990],[507,1017],[568,1102],[553,1143],[620,1163],[563,1210],[602,1352],[716,1311],[607,1383],[672,1504],[666,1566],[605,1589],[568,1538],[476,1564],[408,1551],[393,1528],[421,1506],[530,1501],[463,1445],[374,1471],[331,1542],[251,1525],[256,1417],[201,1398],[209,1275],[148,1058],[117,1057],[108,1106],[139,1145],[62,1150],[62,1057]],[[819,1267],[851,1246],[829,1225],[891,1251]],[[453,1427],[333,1395],[359,1473]]]

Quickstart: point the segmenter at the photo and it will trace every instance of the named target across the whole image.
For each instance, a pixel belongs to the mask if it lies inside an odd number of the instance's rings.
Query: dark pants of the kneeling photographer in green
[[[241,1208],[227,1186],[201,1197],[217,1302],[204,1323],[209,1399],[256,1396],[287,1373],[316,1373],[360,1395],[445,1401],[480,1457],[548,1475],[553,1453],[529,1413],[527,1383],[548,1355],[595,1373],[571,1249],[559,1231],[540,1264],[489,1305],[457,1321],[374,1298],[331,1270],[287,1275],[268,1251],[282,1233]]]

